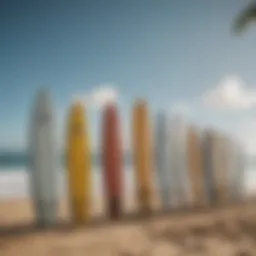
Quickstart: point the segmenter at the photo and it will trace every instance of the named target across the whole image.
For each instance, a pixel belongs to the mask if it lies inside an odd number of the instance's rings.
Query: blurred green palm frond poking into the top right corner
[[[235,20],[234,31],[242,32],[246,26],[256,19],[256,1],[250,4]]]

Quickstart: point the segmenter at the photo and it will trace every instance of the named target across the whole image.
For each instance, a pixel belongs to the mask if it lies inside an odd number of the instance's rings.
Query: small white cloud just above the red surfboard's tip
[[[76,93],[73,95],[73,100],[89,107],[102,108],[109,102],[116,102],[118,96],[118,91],[113,84],[102,84],[90,93]]]

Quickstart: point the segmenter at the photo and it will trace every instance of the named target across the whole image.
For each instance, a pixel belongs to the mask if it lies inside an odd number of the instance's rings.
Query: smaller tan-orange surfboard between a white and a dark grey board
[[[192,205],[202,206],[206,203],[206,190],[200,137],[197,129],[193,126],[189,127],[187,136],[188,175],[191,184]]]

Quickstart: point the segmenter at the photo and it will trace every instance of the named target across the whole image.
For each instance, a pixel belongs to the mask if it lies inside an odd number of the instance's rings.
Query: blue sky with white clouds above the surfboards
[[[27,145],[36,92],[51,90],[58,145],[72,100],[84,100],[92,144],[101,109],[117,101],[124,147],[131,108],[180,112],[256,154],[256,25],[232,33],[249,0],[1,0],[0,148]],[[88,103],[88,99],[89,103]]]

